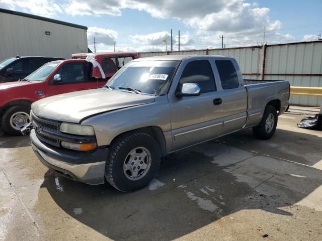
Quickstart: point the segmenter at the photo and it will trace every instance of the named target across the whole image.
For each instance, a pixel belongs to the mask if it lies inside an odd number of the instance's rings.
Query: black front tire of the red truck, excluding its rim
[[[7,134],[12,135],[12,136],[22,136],[22,133],[20,130],[16,130],[10,125],[11,116],[17,112],[25,112],[29,115],[30,114],[30,106],[14,105],[5,111],[4,115],[2,116],[1,126]]]

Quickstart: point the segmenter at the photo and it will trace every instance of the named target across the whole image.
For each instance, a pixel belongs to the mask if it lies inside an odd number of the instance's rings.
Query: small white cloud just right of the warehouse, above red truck
[[[114,45],[117,39],[117,32],[111,29],[103,29],[98,27],[89,27],[87,30],[88,42],[95,42],[103,45]]]

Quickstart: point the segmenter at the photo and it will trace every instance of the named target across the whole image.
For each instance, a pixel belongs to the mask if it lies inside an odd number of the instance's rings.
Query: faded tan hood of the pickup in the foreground
[[[37,116],[56,121],[80,123],[99,113],[148,104],[155,97],[117,90],[91,89],[59,94],[34,102],[31,109]]]

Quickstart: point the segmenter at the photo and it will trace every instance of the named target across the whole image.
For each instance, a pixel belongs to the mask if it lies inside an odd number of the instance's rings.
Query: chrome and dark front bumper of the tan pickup
[[[55,148],[42,143],[37,138],[35,131],[31,131],[30,140],[38,159],[54,172],[91,185],[104,183],[108,149],[98,149],[95,152],[83,154]]]

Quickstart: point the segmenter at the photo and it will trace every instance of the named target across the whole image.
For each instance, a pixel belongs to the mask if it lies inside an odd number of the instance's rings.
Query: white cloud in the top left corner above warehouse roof
[[[0,0],[0,7],[10,10],[21,8],[31,14],[48,18],[62,13],[61,5],[56,4],[55,0]]]

